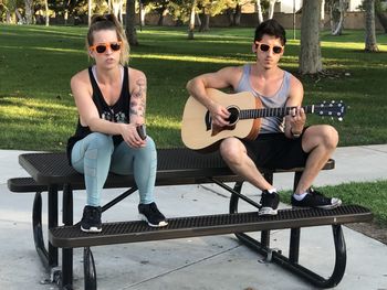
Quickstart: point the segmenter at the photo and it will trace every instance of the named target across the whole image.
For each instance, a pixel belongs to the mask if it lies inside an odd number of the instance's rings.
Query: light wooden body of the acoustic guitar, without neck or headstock
[[[217,149],[219,142],[229,137],[250,140],[257,138],[261,119],[239,119],[238,114],[240,110],[261,108],[259,98],[249,92],[226,94],[208,88],[207,93],[211,99],[231,112],[230,126],[212,126],[208,109],[190,96],[186,103],[181,122],[181,140],[186,147],[207,152]]]

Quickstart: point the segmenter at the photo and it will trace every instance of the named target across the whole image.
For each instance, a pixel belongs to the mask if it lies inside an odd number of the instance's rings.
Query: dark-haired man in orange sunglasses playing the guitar
[[[284,118],[262,118],[255,140],[231,137],[220,143],[220,153],[230,169],[262,191],[260,215],[275,215],[280,198],[258,167],[305,167],[292,195],[293,206],[331,210],[342,204],[341,200],[327,198],[311,189],[336,149],[338,135],[327,125],[305,127],[306,115],[301,108],[303,86],[296,77],[279,67],[285,43],[284,29],[275,20],[264,21],[257,28],[252,44],[255,63],[199,75],[187,84],[189,94],[208,108],[215,126],[227,126],[229,112],[208,97],[206,88],[231,87],[236,93],[251,92],[265,108],[296,107]]]

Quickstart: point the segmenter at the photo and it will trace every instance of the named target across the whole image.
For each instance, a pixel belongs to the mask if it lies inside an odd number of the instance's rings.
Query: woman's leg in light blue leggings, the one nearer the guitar
[[[126,142],[118,144],[112,155],[111,171],[116,174],[134,173],[139,192],[139,203],[154,202],[157,170],[157,152],[154,140],[147,136],[144,148],[130,148]]]

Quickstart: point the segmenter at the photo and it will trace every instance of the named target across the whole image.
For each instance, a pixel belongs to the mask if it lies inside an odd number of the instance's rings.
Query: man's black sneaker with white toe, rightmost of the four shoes
[[[310,189],[301,201],[292,195],[292,205],[295,207],[317,207],[322,210],[333,210],[342,205],[342,200],[336,197],[325,197],[322,193]]]

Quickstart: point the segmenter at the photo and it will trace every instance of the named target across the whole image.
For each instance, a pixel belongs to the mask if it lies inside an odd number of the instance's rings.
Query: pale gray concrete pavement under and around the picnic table
[[[27,176],[18,164],[20,153],[0,150],[0,289],[56,289],[44,284],[48,275],[33,245],[33,194],[10,193],[7,187],[8,179]],[[322,172],[315,185],[387,179],[387,144],[338,148],[334,159],[336,169]],[[274,175],[278,189],[290,189],[292,180],[287,173]],[[118,192],[105,191],[103,202]],[[249,184],[243,193],[259,198],[259,192]],[[156,198],[166,216],[174,217],[226,213],[229,194],[212,184],[160,186]],[[76,192],[74,221],[81,218],[84,203],[84,191]],[[129,196],[104,213],[104,222],[136,219],[137,203],[137,194]],[[344,234],[347,268],[335,289],[387,290],[387,246],[347,227]],[[287,241],[289,230],[272,232],[272,247],[287,253]],[[328,277],[333,270],[332,245],[330,226],[302,229],[300,264]],[[93,254],[98,289],[313,289],[276,265],[262,262],[261,256],[240,245],[233,235],[94,247]],[[75,249],[75,289],[83,289],[82,258],[82,249]]]

